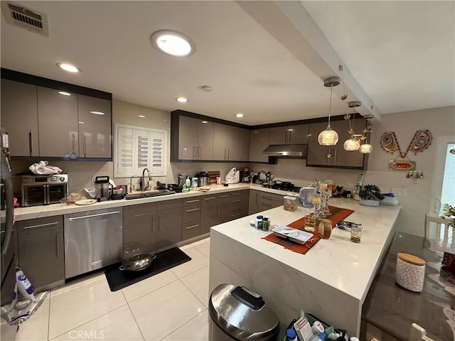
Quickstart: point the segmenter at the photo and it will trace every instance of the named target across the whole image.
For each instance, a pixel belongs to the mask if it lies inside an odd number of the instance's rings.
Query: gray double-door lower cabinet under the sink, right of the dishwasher
[[[164,249],[182,240],[182,200],[125,206],[123,256]]]

